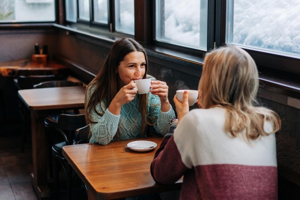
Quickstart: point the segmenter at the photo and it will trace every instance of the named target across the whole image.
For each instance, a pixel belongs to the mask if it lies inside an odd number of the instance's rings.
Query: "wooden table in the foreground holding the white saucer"
[[[135,152],[125,147],[128,142],[149,140],[157,143],[154,150]],[[181,188],[175,184],[155,184],[150,163],[162,138],[148,137],[110,142],[108,145],[80,144],[63,147],[63,155],[88,188],[88,200],[118,199],[136,195],[166,192]]]

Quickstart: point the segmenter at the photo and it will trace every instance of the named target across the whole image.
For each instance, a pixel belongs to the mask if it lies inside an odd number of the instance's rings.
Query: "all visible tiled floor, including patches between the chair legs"
[[[30,138],[25,145],[24,152],[21,153],[21,138],[19,131],[9,130],[9,127],[0,128],[0,200],[35,200],[38,197],[30,182],[32,173],[32,148]],[[20,129],[20,128],[18,128]],[[3,131],[5,130],[5,131]],[[63,188],[60,192],[60,199],[66,199],[65,176],[60,174]],[[85,193],[78,189],[80,179],[75,178],[74,195],[72,199],[85,199]],[[54,193],[53,178],[48,177],[51,199],[57,199]]]

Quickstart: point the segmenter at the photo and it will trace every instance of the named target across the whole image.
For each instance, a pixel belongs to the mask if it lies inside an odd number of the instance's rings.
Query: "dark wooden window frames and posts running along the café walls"
[[[150,45],[152,49],[170,50],[169,52],[178,52],[184,56],[193,55],[203,58],[205,51],[197,49],[182,47],[179,45],[166,44],[155,40],[155,0],[138,0],[135,1],[135,35],[128,35],[125,33],[115,32],[114,25],[114,0],[108,0],[108,25],[93,22],[93,1],[90,1],[90,21],[85,22],[78,20],[78,0],[77,2],[77,22],[68,22],[65,17],[65,0],[55,1],[55,21],[59,25],[81,25],[82,31],[89,34],[93,32],[106,35],[112,38],[131,37],[135,38],[142,45]],[[225,31],[226,31],[226,0],[208,1],[208,51],[213,48],[226,45]],[[43,25],[47,22],[0,22],[1,26],[14,26],[14,24],[26,25]],[[48,22],[49,23],[49,22]],[[50,22],[53,23],[53,22]],[[255,60],[258,69],[267,73],[281,75],[286,74],[286,77],[300,76],[300,55],[299,57],[292,55],[281,55],[280,53],[271,53],[267,50],[257,50],[248,47],[243,47]],[[159,53],[159,50],[157,50]],[[173,55],[170,54],[170,57]],[[176,56],[173,56],[177,58]],[[183,59],[185,59],[183,57]],[[201,63],[200,63],[201,64]]]

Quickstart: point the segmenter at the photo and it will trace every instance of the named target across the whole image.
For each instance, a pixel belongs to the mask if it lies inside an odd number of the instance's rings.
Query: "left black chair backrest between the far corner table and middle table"
[[[33,85],[45,81],[64,80],[65,75],[29,75],[18,76],[17,85],[20,89],[32,89]]]

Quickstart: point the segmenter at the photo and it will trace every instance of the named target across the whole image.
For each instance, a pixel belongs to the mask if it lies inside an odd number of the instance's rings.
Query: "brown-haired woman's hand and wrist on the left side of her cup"
[[[128,85],[123,86],[108,106],[109,112],[111,112],[114,115],[120,115],[121,106],[134,99],[135,94],[137,92],[133,89],[135,87],[136,84],[133,81],[131,81]]]

